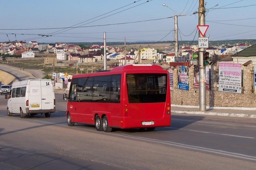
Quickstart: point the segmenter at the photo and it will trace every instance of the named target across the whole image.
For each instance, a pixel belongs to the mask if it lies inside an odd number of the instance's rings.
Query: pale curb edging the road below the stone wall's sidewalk
[[[230,117],[247,117],[256,118],[255,114],[236,114],[236,113],[218,113],[218,112],[197,112],[197,111],[171,111],[171,113],[176,114],[194,114],[194,115],[212,115],[212,116],[230,116]]]

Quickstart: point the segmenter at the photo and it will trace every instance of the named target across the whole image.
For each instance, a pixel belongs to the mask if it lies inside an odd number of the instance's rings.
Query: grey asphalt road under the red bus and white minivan
[[[68,127],[58,93],[50,118],[7,116],[0,96],[1,169],[256,169],[256,119],[173,114],[171,127],[105,133]]]

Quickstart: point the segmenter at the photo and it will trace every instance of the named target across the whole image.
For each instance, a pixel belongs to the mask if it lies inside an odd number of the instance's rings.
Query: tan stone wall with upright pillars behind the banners
[[[218,91],[219,62],[211,65],[211,88],[206,90],[206,106],[218,107],[256,107],[256,95],[252,94],[253,65],[242,65],[242,93]],[[199,106],[199,89],[194,88],[194,66],[189,67],[189,91],[178,89],[178,68],[173,70],[174,90],[171,90],[171,103],[177,105]]]

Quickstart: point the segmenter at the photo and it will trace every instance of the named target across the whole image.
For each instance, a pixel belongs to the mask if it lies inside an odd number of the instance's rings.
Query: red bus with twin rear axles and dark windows
[[[67,124],[112,128],[165,127],[171,124],[168,71],[157,65],[125,65],[74,75],[67,100]]]

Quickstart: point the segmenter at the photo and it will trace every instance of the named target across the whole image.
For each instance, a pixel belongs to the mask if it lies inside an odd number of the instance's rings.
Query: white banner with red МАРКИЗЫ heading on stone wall
[[[219,91],[242,92],[241,64],[219,63]]]

